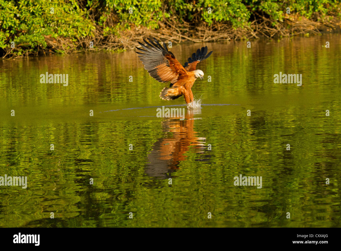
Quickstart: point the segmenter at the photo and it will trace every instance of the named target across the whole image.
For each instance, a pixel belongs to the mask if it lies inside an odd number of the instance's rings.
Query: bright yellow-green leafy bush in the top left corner
[[[46,36],[72,42],[90,36],[94,25],[84,18],[85,11],[78,8],[77,1],[61,2],[0,0],[0,47],[10,48],[14,41],[16,52],[21,55],[38,46],[46,47]]]

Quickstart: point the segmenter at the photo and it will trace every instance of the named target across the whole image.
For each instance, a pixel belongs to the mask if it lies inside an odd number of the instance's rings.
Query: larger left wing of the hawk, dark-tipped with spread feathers
[[[163,47],[154,38],[154,41],[148,38],[149,43],[143,40],[146,45],[138,42],[142,48],[137,48],[141,52],[136,52],[154,79],[159,82],[168,82],[172,84],[187,76],[188,71],[183,68],[179,61],[175,58],[172,52],[168,51],[165,43]]]

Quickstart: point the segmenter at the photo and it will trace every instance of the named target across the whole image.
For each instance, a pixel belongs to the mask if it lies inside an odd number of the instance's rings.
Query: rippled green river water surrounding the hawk
[[[174,45],[181,63],[213,50],[183,121],[156,116],[184,99],[161,100],[133,51],[0,61],[0,176],[28,183],[0,186],[0,226],[339,227],[340,38]]]

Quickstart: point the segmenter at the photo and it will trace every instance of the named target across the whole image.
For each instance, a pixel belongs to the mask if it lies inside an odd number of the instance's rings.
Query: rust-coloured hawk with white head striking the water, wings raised
[[[138,42],[142,48],[137,48],[141,52],[136,52],[154,79],[165,83],[170,81],[169,88],[165,87],[160,93],[163,100],[177,99],[182,95],[187,104],[193,101],[192,86],[197,78],[203,79],[204,72],[196,70],[198,62],[208,58],[213,51],[207,54],[207,46],[198,49],[192,57],[188,58],[188,62],[182,66],[175,58],[172,52],[168,51],[165,43],[163,46],[154,38],[154,41],[148,38],[146,45]],[[207,55],[206,55],[207,54]]]

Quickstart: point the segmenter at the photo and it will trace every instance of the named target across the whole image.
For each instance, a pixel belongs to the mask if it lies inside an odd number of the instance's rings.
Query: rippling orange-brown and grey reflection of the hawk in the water
[[[186,153],[191,148],[196,153],[203,153],[205,149],[204,137],[197,137],[194,131],[194,115],[201,114],[200,109],[188,109],[184,120],[179,118],[163,118],[162,128],[165,136],[154,143],[148,154],[146,173],[159,179],[172,178],[170,173],[179,169],[181,161],[186,159]],[[169,134],[171,133],[171,134]]]

